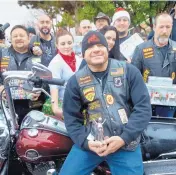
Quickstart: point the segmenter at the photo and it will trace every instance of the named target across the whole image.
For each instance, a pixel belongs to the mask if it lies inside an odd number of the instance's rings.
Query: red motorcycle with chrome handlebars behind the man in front
[[[9,82],[25,80],[23,89],[42,91],[43,83],[64,85],[53,79],[43,65],[35,64],[31,72],[9,71],[3,73],[7,101],[1,100],[0,116],[0,174],[55,175],[61,168],[73,142],[63,120],[32,110],[18,125]],[[142,134],[141,149],[145,175],[176,174],[176,119],[153,117]],[[105,162],[91,175],[110,175]]]

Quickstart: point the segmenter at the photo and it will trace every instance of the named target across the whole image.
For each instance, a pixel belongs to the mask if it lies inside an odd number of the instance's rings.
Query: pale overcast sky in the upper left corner
[[[9,36],[10,30],[14,25],[25,24],[27,20],[33,19],[33,15],[25,6],[20,7],[18,0],[0,0],[0,24],[10,23],[6,30]]]

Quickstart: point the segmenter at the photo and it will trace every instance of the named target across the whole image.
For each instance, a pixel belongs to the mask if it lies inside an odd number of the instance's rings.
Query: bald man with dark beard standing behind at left
[[[57,54],[55,38],[50,34],[52,21],[49,16],[44,14],[38,18],[37,26],[39,33],[31,38],[30,44],[35,55],[42,54],[41,63],[48,66]],[[40,49],[35,46],[40,47]]]

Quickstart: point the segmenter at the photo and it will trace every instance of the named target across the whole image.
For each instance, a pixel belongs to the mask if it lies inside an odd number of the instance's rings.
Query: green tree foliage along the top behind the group
[[[132,25],[136,26],[143,21],[149,22],[149,19],[156,14],[169,11],[173,7],[174,1],[124,1],[124,0],[106,0],[106,1],[18,1],[20,6],[27,8],[43,9],[49,16],[54,18],[57,14],[62,15],[63,21],[59,26],[73,26],[82,19],[93,21],[98,12],[103,12],[112,17],[116,7],[125,8],[131,16]]]

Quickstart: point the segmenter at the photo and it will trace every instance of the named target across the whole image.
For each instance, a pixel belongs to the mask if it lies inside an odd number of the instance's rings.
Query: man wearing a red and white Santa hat
[[[119,34],[119,44],[131,36],[128,33],[130,21],[129,13],[121,7],[116,10],[112,17],[112,25],[117,29]],[[119,60],[126,60],[126,58],[120,54]]]

